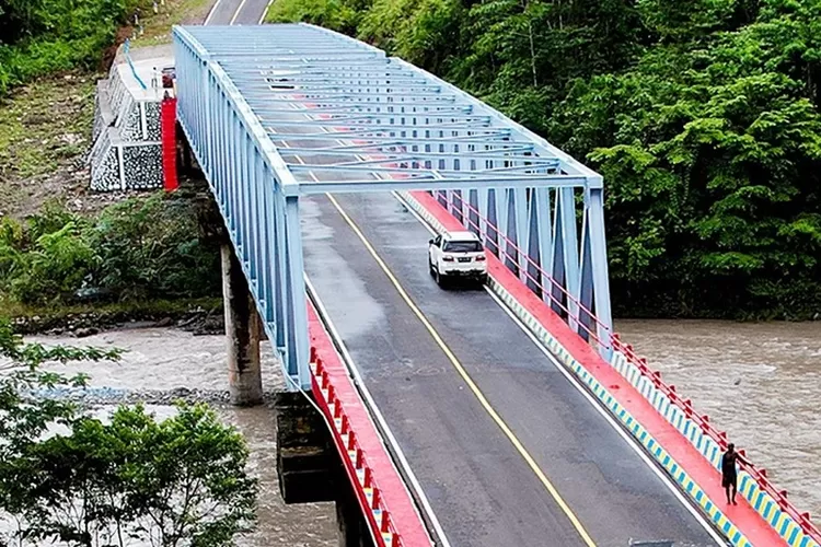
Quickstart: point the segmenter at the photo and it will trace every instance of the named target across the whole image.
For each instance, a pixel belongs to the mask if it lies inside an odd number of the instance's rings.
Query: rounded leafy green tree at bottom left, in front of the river
[[[19,467],[37,478],[26,534],[82,546],[231,545],[254,521],[245,441],[206,405],[177,410],[158,422],[141,406],[119,407],[107,422],[84,416],[70,435],[38,443]]]

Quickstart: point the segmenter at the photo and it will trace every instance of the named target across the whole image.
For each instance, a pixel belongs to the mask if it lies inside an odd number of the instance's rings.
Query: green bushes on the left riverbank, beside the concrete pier
[[[65,305],[83,289],[119,302],[213,296],[218,260],[185,199],[130,198],[92,219],[50,205],[0,223],[0,302]]]

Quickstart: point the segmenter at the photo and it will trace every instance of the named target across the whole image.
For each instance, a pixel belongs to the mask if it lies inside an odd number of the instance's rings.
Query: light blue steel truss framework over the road
[[[312,194],[431,191],[531,287],[552,277],[555,291],[540,292],[559,295],[571,326],[610,339],[593,171],[447,82],[324,28],[177,26],[174,55],[181,125],[296,383],[310,384],[299,200]]]

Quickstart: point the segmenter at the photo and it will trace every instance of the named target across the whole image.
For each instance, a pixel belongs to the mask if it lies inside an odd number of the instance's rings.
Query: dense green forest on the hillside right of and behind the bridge
[[[600,171],[616,313],[821,312],[821,0],[278,0]]]

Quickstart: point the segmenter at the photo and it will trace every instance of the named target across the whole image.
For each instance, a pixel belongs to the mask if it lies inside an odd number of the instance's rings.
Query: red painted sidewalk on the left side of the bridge
[[[371,526],[371,529],[378,531],[384,528],[384,526],[382,522],[377,522],[371,508],[375,503],[385,509],[390,514],[392,531],[400,535],[398,544],[395,543],[392,547],[397,547],[397,545],[402,547],[430,546],[430,538],[419,513],[416,511],[416,505],[410,498],[410,493],[394,467],[391,456],[365,407],[365,403],[350,380],[347,368],[336,352],[331,337],[311,303],[308,306],[308,326],[311,347],[323,363],[322,369],[327,374],[328,383],[333,386],[336,399],[340,401],[340,406],[344,408],[347,424],[356,437],[356,444],[361,449],[362,459],[367,463],[366,466],[360,466],[359,468],[367,467],[369,469],[367,473],[371,476],[373,485],[379,490],[379,493],[374,494],[374,497],[381,500],[381,502],[374,502],[373,499],[368,498],[360,486],[359,477],[356,473],[356,464],[346,457],[347,447],[344,446],[339,431],[334,428],[334,442],[345,464],[348,479],[356,491],[362,514]],[[328,405],[317,391],[319,385],[316,382],[313,382],[313,392],[316,401],[333,423],[333,416]],[[377,540],[380,545],[385,545],[381,537],[378,536]]]

